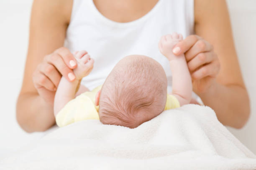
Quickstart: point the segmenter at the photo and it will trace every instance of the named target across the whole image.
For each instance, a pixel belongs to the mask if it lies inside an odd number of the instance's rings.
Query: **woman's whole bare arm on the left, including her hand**
[[[55,86],[58,85],[61,74],[67,77],[68,72],[72,72],[68,67],[61,65],[63,60],[72,58],[68,52],[62,57],[56,57],[58,52],[67,51],[60,49],[55,53],[54,58],[58,62],[59,70],[56,71],[53,66],[53,58],[45,57],[45,65],[48,66],[37,68],[39,63],[42,63],[44,56],[54,52],[59,47],[64,45],[66,30],[69,23],[72,10],[72,0],[35,0],[33,2],[30,24],[30,38],[28,46],[28,55],[23,78],[23,85],[18,97],[16,106],[16,116],[21,128],[27,132],[44,131],[55,124],[53,113],[53,100],[55,95]],[[64,63],[64,62],[63,62]],[[66,62],[68,63],[68,62]],[[67,64],[68,65],[68,64]],[[51,66],[51,67],[49,67]],[[65,65],[66,66],[66,65]],[[74,65],[73,65],[74,66]],[[69,65],[70,68],[72,66]],[[32,79],[35,70],[39,73],[48,72],[48,77],[44,74]],[[54,76],[54,77],[53,77]],[[54,84],[50,81],[54,78]],[[35,88],[33,81],[41,82],[45,86]],[[41,95],[38,94],[40,90]],[[44,96],[44,97],[42,97]],[[45,99],[48,100],[45,100]]]

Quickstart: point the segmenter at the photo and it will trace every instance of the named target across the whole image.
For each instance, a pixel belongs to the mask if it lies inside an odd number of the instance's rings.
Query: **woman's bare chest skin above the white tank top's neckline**
[[[127,23],[146,15],[158,0],[93,0],[97,10],[106,18]]]

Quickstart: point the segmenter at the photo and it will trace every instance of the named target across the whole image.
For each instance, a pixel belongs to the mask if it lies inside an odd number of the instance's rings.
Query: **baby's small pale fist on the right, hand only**
[[[181,40],[183,40],[183,37],[181,34],[177,34],[176,32],[168,35],[164,35],[161,37],[161,40],[158,44],[159,50],[160,52],[170,61],[170,60],[174,60],[177,59],[177,57],[180,56],[176,56],[174,55],[174,53],[172,52],[173,47],[180,42]],[[182,54],[183,55],[183,54]]]

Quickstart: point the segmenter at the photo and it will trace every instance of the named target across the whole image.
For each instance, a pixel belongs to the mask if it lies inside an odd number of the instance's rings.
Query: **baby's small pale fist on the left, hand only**
[[[77,60],[77,67],[73,71],[77,80],[81,80],[92,71],[94,60],[84,50],[77,52],[75,58]]]

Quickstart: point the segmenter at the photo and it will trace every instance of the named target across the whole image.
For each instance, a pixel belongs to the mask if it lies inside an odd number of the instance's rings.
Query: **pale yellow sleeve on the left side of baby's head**
[[[73,122],[87,119],[99,120],[97,107],[87,96],[88,92],[82,93],[75,99],[69,101],[56,115],[56,124],[59,127],[69,125]]]

